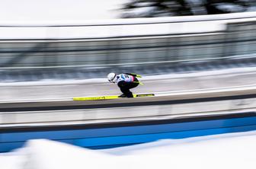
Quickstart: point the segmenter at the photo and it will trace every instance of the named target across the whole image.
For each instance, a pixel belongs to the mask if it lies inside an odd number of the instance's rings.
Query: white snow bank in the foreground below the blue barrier
[[[190,139],[166,139],[141,145],[89,150],[45,139],[0,154],[2,169],[68,168],[255,168],[256,132]]]

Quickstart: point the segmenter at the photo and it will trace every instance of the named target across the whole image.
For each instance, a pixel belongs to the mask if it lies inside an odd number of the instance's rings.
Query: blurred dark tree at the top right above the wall
[[[131,0],[123,5],[122,18],[225,14],[256,11],[254,0]],[[250,8],[250,9],[249,9]]]

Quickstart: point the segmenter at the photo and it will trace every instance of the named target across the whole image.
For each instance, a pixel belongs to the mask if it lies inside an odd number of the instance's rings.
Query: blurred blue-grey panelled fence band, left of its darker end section
[[[130,37],[114,40],[53,40],[48,42],[2,43],[2,67],[136,65],[146,62],[173,62],[212,59],[226,53],[225,33],[203,33],[188,37]],[[256,48],[254,48],[256,49]],[[250,53],[251,51],[237,53]],[[241,49],[240,49],[241,50]],[[243,49],[244,51],[244,49]]]

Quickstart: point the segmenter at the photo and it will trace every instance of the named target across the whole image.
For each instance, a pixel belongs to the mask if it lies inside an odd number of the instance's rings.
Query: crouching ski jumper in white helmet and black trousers
[[[130,91],[131,88],[136,88],[139,84],[138,78],[141,78],[141,75],[136,75],[133,73],[123,73],[116,75],[115,73],[110,73],[107,75],[108,81],[112,83],[117,83],[120,91],[123,92],[119,97],[133,97],[133,93]]]

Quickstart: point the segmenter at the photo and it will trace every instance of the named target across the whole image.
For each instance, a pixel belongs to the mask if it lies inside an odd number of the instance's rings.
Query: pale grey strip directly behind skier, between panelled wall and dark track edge
[[[145,85],[134,88],[134,93],[165,91],[186,91],[207,88],[228,88],[241,85],[256,85],[256,71],[229,72],[219,74],[190,74],[188,76],[169,75],[169,78],[143,80]],[[69,82],[69,81],[66,81]],[[40,83],[39,83],[40,84]],[[0,102],[5,100],[48,100],[85,96],[120,94],[117,85],[107,81],[101,83],[58,84],[54,85],[0,85]]]

